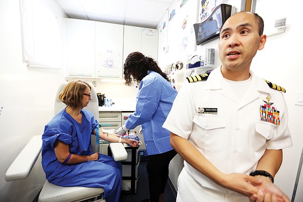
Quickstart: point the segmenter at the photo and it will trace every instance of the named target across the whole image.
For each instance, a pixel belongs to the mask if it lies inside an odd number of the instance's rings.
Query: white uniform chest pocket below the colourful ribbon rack
[[[260,157],[266,149],[266,141],[277,135],[277,126],[266,121],[257,121],[250,137],[250,150],[253,157]]]

